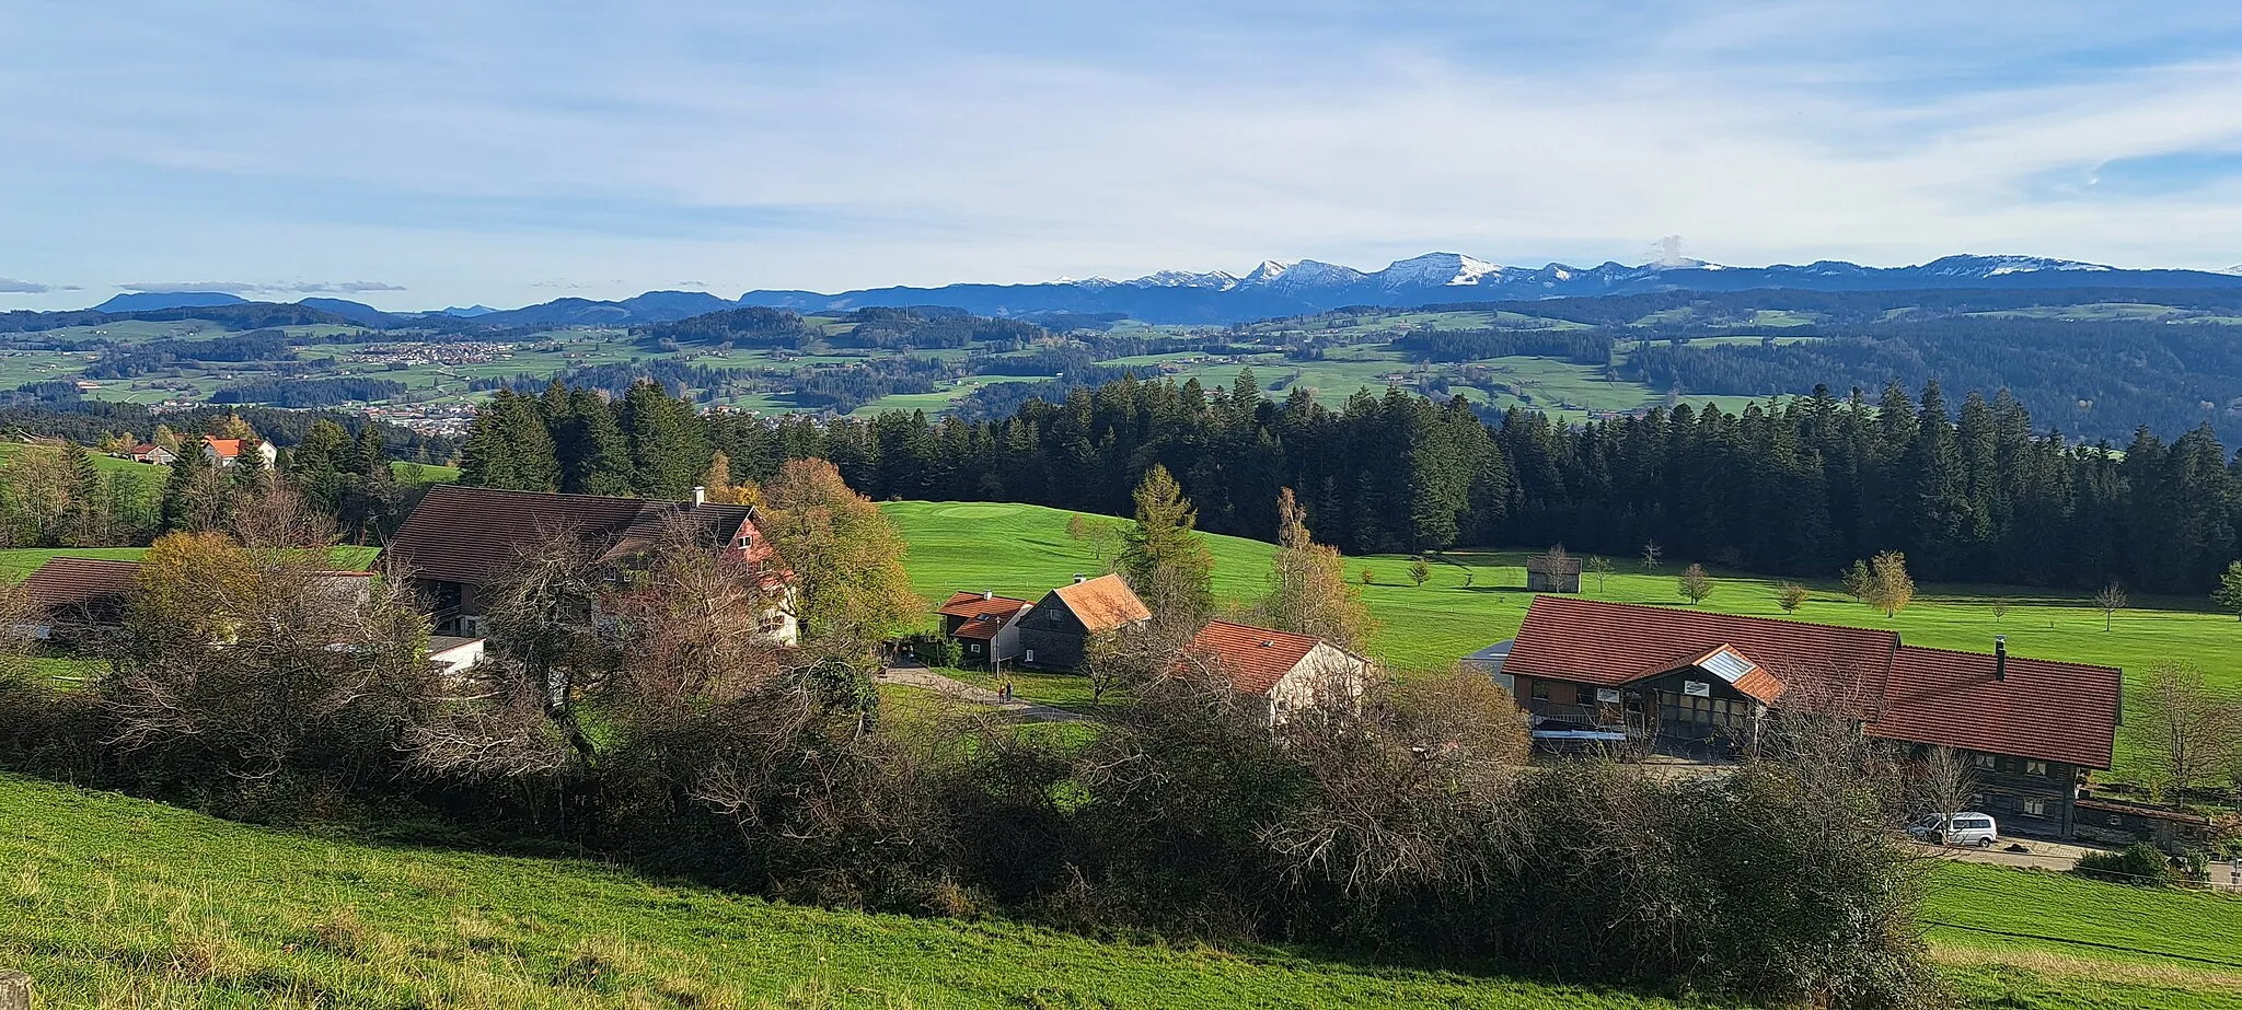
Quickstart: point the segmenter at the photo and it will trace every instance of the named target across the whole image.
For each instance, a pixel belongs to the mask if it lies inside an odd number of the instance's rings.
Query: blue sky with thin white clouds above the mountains
[[[0,2],[0,307],[2242,264],[2233,2]]]

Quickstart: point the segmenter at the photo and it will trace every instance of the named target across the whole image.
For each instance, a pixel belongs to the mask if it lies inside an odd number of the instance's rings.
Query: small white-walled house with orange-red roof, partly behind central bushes
[[[1269,726],[1314,705],[1354,703],[1370,683],[1370,661],[1347,649],[1229,620],[1208,620],[1184,647],[1177,672],[1229,679],[1231,690],[1269,705]]]

